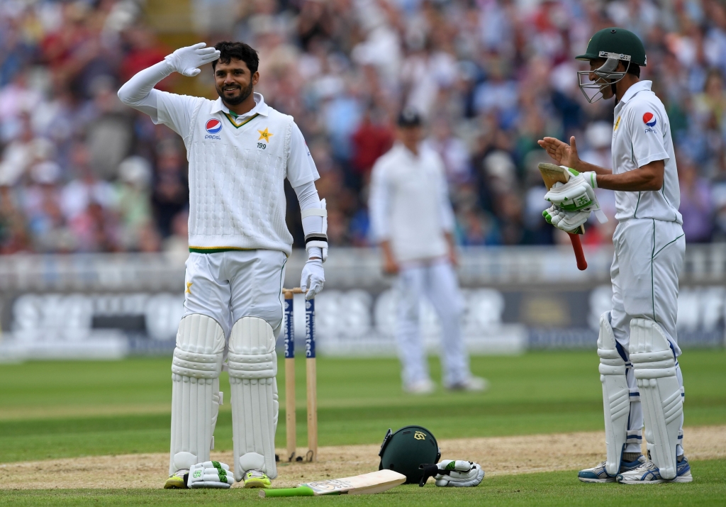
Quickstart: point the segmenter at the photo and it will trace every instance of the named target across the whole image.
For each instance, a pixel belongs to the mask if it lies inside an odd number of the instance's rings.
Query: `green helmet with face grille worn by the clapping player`
[[[603,28],[595,33],[587,43],[587,50],[584,54],[575,57],[576,60],[605,60],[597,70],[594,70],[596,76],[600,78],[595,82],[590,82],[590,70],[579,70],[577,72],[577,81],[582,94],[584,94],[587,102],[597,102],[603,98],[603,88],[605,86],[613,86],[627,74],[630,65],[640,65],[645,67],[648,58],[645,57],[645,46],[643,41],[638,38],[635,33],[625,30],[624,28]],[[625,72],[616,72],[618,62],[627,62]],[[588,94],[586,90],[595,90],[594,93]]]

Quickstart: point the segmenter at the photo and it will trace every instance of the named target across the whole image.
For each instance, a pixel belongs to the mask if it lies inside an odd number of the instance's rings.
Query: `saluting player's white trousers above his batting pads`
[[[282,325],[286,261],[287,256],[277,250],[189,254],[184,315],[212,317],[227,339],[237,320],[259,317],[277,336]]]

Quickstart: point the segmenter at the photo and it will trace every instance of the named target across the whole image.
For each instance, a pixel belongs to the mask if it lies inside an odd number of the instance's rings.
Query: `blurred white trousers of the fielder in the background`
[[[420,333],[421,297],[426,296],[441,322],[441,362],[444,385],[470,377],[469,358],[461,336],[461,296],[449,261],[402,267],[398,279],[399,320],[396,339],[405,385],[428,380],[428,364]]]

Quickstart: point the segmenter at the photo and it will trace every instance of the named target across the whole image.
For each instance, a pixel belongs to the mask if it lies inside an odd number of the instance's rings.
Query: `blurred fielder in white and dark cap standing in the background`
[[[471,375],[461,336],[454,214],[444,163],[422,144],[422,121],[415,110],[404,110],[398,126],[398,142],[373,166],[369,209],[372,234],[383,251],[383,269],[399,275],[396,338],[404,391],[427,394],[434,389],[419,330],[424,295],[441,320],[444,386],[482,391],[486,380]]]

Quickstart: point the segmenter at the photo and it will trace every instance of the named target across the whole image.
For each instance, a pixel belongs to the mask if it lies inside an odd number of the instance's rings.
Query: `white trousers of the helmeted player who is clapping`
[[[630,321],[654,320],[666,333],[676,358],[676,375],[683,387],[677,357],[676,317],[678,315],[678,275],[685,257],[685,235],[677,222],[654,219],[629,219],[620,222],[613,235],[615,254],[610,275],[613,282],[611,325],[618,352],[625,360],[630,390],[630,415],[626,453],[640,453],[643,439],[643,407],[630,362]],[[680,437],[683,434],[681,416]],[[682,454],[679,445],[678,453]]]

